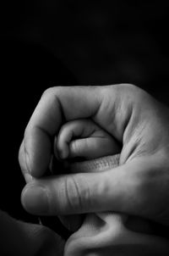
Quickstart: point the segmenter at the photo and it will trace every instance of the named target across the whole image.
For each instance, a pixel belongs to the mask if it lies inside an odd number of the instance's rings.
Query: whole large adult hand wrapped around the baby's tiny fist
[[[88,118],[122,145],[120,166],[43,178],[64,121]],[[168,109],[136,86],[53,87],[43,94],[19,150],[32,214],[112,210],[169,223]],[[31,181],[31,177],[35,178]]]

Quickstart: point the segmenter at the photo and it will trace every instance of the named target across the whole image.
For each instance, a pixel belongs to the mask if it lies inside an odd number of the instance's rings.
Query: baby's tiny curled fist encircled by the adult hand
[[[119,153],[120,147],[113,136],[94,121],[81,119],[69,121],[61,127],[55,149],[59,159],[96,159]]]

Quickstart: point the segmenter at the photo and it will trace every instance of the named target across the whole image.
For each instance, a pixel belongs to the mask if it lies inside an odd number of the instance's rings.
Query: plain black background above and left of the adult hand
[[[0,208],[20,204],[19,144],[41,93],[57,85],[133,83],[168,104],[166,1],[0,3]]]

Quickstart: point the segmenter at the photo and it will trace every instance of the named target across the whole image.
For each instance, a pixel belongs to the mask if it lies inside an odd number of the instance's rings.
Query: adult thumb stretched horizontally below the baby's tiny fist
[[[77,167],[74,165],[74,168]],[[34,179],[25,186],[21,201],[30,214],[37,215],[119,210],[121,203],[128,204],[133,191],[134,176],[131,171],[127,172],[119,166],[104,172],[93,169],[92,172]]]

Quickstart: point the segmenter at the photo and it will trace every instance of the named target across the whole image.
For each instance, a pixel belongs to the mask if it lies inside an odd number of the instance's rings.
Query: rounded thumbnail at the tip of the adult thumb
[[[21,199],[25,209],[30,214],[46,214],[49,209],[46,189],[42,186],[27,186]]]

